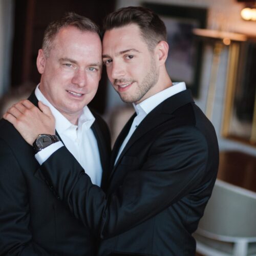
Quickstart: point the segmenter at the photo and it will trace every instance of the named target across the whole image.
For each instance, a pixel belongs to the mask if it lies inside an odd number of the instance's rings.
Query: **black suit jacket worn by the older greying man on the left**
[[[29,98],[37,105],[34,93]],[[108,176],[110,137],[93,113],[92,126]],[[14,126],[0,121],[0,255],[94,255],[96,239],[61,203],[49,183],[37,175],[40,166],[32,146]],[[52,190],[52,191],[51,191]]]

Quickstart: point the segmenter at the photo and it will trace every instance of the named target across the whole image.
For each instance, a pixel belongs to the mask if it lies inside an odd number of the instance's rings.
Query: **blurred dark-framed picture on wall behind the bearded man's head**
[[[153,3],[143,3],[143,6],[155,11],[165,23],[169,45],[166,68],[172,81],[184,81],[197,98],[202,42],[194,35],[193,29],[206,27],[207,9]]]

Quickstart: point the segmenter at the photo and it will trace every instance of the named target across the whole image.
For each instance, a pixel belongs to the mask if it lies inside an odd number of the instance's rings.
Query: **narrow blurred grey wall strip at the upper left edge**
[[[12,36],[13,0],[0,0],[0,96],[10,86]]]

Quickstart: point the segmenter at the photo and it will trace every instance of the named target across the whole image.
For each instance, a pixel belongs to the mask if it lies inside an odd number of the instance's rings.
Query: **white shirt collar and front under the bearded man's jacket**
[[[138,127],[138,125],[141,123],[141,121],[146,117],[148,113],[150,113],[153,109],[156,108],[160,103],[162,103],[165,99],[169,98],[170,96],[173,96],[179,92],[182,92],[186,90],[186,84],[184,82],[177,82],[173,83],[173,86],[168,87],[167,89],[143,100],[139,104],[135,105],[133,103],[134,109],[137,113],[137,116],[134,118],[132,126],[130,128],[129,133],[125,137],[122,145],[119,148],[118,155],[115,160],[115,164],[121,155],[123,148],[127,144],[127,142],[130,140],[131,136],[133,135],[134,131]]]

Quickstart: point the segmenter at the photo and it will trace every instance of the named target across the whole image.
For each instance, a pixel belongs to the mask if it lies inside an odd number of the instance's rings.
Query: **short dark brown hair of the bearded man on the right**
[[[105,17],[104,31],[120,28],[126,25],[139,26],[148,49],[153,50],[158,42],[167,41],[166,27],[160,17],[152,10],[139,6],[118,9]]]

